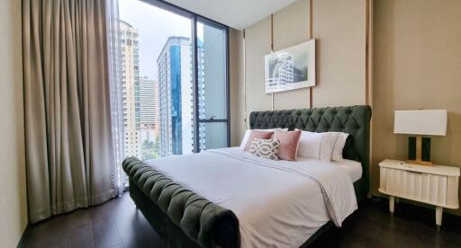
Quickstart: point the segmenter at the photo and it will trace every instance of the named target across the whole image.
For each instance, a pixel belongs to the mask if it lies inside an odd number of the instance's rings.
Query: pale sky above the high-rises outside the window
[[[168,37],[191,37],[190,19],[139,0],[119,0],[119,18],[138,28],[141,77],[157,80],[157,58]]]

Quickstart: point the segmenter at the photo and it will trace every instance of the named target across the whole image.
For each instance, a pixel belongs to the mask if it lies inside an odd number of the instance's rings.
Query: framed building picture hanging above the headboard
[[[315,40],[264,57],[266,93],[315,86]]]

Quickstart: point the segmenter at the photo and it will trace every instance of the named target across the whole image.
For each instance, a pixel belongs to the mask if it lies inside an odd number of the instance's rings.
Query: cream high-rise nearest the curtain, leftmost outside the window
[[[125,155],[140,156],[139,32],[127,22],[119,23]]]

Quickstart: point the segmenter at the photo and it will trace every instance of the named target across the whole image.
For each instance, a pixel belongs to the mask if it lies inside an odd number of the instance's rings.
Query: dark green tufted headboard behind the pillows
[[[364,199],[369,187],[371,108],[368,105],[301,109],[287,111],[253,111],[249,128],[294,128],[311,132],[345,132],[349,134],[344,146],[344,158],[362,164],[357,198]]]

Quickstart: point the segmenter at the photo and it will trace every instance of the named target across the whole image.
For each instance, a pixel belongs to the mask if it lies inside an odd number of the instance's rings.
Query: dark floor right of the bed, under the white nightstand
[[[387,201],[367,200],[341,228],[332,228],[314,247],[461,247],[461,217],[444,214],[441,230],[435,210],[400,203],[394,217]]]

